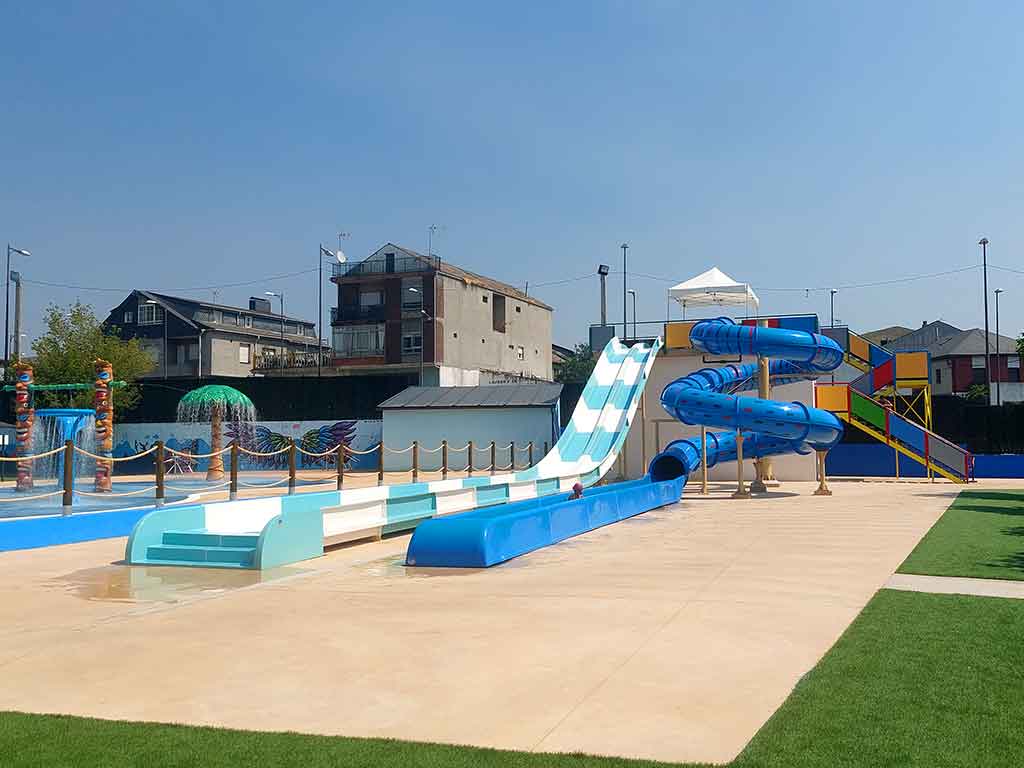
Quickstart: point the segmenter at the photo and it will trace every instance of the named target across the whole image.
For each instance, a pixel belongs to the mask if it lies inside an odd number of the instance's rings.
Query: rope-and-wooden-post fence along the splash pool
[[[482,465],[479,462],[480,454],[487,456],[487,460]],[[544,443],[544,453],[542,456],[548,453],[548,443]],[[224,455],[228,457],[227,466],[227,480],[216,481],[214,478],[212,484],[209,485],[188,485],[188,486],[176,486],[173,481],[167,482],[168,474],[172,474],[175,469],[180,469],[181,467],[187,467],[188,471],[196,464],[198,460],[202,459],[214,459],[220,458],[220,465],[223,466]],[[385,454],[408,454],[409,467],[408,469],[401,470],[385,470],[384,468],[384,457]],[[440,454],[439,466],[436,470],[427,470],[423,468],[423,463],[420,460],[421,454]],[[455,455],[456,460],[452,461],[452,455]],[[397,472],[401,474],[412,473],[412,481],[419,481],[421,475],[426,472],[439,472],[441,479],[447,479],[449,474],[452,472],[465,473],[467,476],[472,476],[474,472],[489,472],[492,475],[497,472],[515,472],[517,470],[528,469],[535,466],[535,444],[530,440],[526,444],[517,445],[515,441],[509,442],[507,444],[499,445],[497,442],[492,440],[489,443],[485,443],[483,446],[479,446],[473,443],[472,440],[468,441],[465,445],[450,445],[447,440],[441,440],[440,444],[436,447],[427,449],[422,446],[419,441],[413,441],[410,445],[403,449],[393,449],[388,447],[382,442],[378,442],[376,445],[369,447],[365,451],[357,451],[350,447],[346,443],[339,443],[327,451],[312,452],[302,449],[294,439],[290,439],[288,444],[278,451],[269,452],[259,452],[252,451],[238,442],[231,442],[225,447],[211,452],[208,454],[195,454],[187,451],[177,451],[168,447],[164,444],[162,440],[157,440],[153,445],[151,445],[145,451],[141,451],[137,454],[132,454],[131,456],[100,456],[86,451],[79,445],[76,445],[73,440],[67,440],[62,446],[55,447],[51,451],[47,451],[41,454],[34,454],[30,456],[14,456],[14,457],[0,457],[0,463],[11,462],[17,464],[18,471],[18,482],[22,482],[23,473],[28,472],[31,477],[31,467],[36,461],[43,459],[48,459],[53,456],[61,455],[63,460],[63,468],[61,470],[61,476],[59,479],[59,487],[54,490],[34,493],[32,481],[30,479],[27,489],[24,494],[15,494],[11,498],[0,499],[0,504],[2,503],[18,503],[33,501],[37,499],[46,499],[50,497],[61,497],[61,510],[62,514],[70,515],[74,511],[75,496],[83,496],[90,498],[102,498],[102,499],[116,499],[121,497],[132,497],[134,499],[139,499],[140,497],[145,497],[148,494],[153,494],[152,499],[156,502],[158,507],[163,506],[167,498],[167,489],[173,490],[185,490],[190,495],[195,494],[207,494],[214,492],[223,492],[225,488],[228,493],[229,499],[238,498],[240,488],[254,488],[254,489],[271,489],[278,486],[285,486],[287,488],[286,493],[291,495],[296,493],[296,488],[299,485],[299,481],[302,480],[304,484],[311,484],[312,486],[324,486],[324,485],[334,485],[337,490],[342,490],[345,484],[345,477],[347,474],[351,474],[352,470],[347,468],[347,465],[352,457],[355,456],[376,456],[377,458],[377,485],[384,485],[385,478],[387,475],[393,475]],[[145,458],[147,456],[153,457],[154,463],[154,482],[152,485],[144,486],[142,488],[116,493],[113,490],[97,490],[97,492],[87,492],[81,489],[81,487],[75,487],[75,456],[81,455],[93,459],[97,464],[100,462],[105,462],[111,467],[113,474],[113,466],[115,463],[131,462],[137,461],[138,459]],[[504,457],[504,461],[499,461],[499,455]],[[240,471],[243,461],[243,457],[248,457],[257,461],[284,461],[287,462],[288,474],[286,477],[275,479],[270,482],[249,482],[241,479]],[[308,476],[302,477],[299,473],[300,460],[299,457],[304,457],[307,460],[312,460],[313,463],[323,464],[325,469],[331,467],[333,469],[330,475],[318,475],[312,479],[312,482],[307,482],[309,480]],[[460,459],[461,457],[461,459]],[[506,463],[507,462],[507,463]],[[28,468],[28,469],[27,469]],[[223,470],[221,470],[223,472]],[[79,480],[79,485],[84,483],[85,480]]]

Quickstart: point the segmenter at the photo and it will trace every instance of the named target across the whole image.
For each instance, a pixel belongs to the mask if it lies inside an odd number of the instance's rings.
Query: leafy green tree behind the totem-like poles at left
[[[50,304],[45,314],[46,333],[32,345],[32,367],[38,384],[88,384],[94,380],[93,362],[110,360],[114,378],[131,384],[156,365],[139,346],[138,339],[124,340],[116,328],[104,329],[88,304],[69,307]],[[115,415],[130,409],[139,398],[137,387],[118,389]],[[38,392],[37,408],[89,408],[92,391]]]

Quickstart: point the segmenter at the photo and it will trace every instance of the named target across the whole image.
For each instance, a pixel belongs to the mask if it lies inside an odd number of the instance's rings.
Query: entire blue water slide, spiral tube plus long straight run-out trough
[[[703,321],[690,331],[693,345],[711,354],[762,354],[774,384],[817,378],[843,361],[831,339],[807,331]],[[756,389],[758,366],[703,369],[677,379],[662,393],[666,411],[686,424],[728,428],[708,434],[708,464],[736,458],[735,430],[743,432],[743,456],[807,454],[827,450],[843,425],[827,411],[801,402],[744,397]],[[746,430],[746,431],[744,431]],[[426,520],[416,528],[408,565],[487,567],[602,525],[679,501],[687,476],[700,466],[700,440],[676,440],[638,480],[589,488],[583,499],[565,494],[475,509]]]

